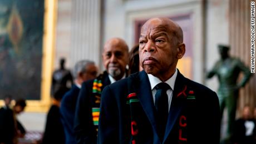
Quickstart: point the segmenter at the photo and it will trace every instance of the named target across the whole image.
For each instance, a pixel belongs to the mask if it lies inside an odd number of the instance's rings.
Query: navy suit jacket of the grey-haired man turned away
[[[79,95],[80,88],[73,85],[71,90],[68,91],[61,100],[61,122],[65,132],[65,143],[76,143],[76,137],[73,130],[74,118],[76,110],[76,101]]]

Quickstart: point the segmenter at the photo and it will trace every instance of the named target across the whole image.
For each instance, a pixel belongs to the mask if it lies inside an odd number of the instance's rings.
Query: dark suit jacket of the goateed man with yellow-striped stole
[[[99,79],[99,77],[97,77]],[[105,71],[100,78],[102,81],[101,90],[110,85],[109,75]],[[82,87],[77,99],[74,130],[77,143],[96,143],[97,128],[93,125],[92,107],[100,107],[100,102],[96,103],[97,97],[92,93],[93,80],[82,83]]]

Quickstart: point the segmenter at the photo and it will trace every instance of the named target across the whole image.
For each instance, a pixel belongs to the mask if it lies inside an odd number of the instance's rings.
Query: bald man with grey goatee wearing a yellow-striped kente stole
[[[95,80],[82,83],[74,122],[77,143],[96,143],[100,101],[103,88],[126,77],[129,48],[121,38],[111,38],[104,45],[102,60],[106,71]]]

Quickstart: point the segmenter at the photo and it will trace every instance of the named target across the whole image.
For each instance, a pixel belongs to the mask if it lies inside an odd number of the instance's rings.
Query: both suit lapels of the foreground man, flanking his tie
[[[134,78],[134,81],[132,83],[132,90],[135,90],[135,92],[137,93],[137,97],[141,103],[143,110],[146,113],[147,118],[152,125],[153,131],[154,133],[157,133],[155,106],[152,99],[152,91],[149,78],[145,71],[140,72],[139,75]],[[170,135],[171,130],[173,130],[173,127],[180,115],[181,110],[183,110],[186,105],[186,90],[187,86],[185,77],[181,75],[181,73],[178,71],[168,116],[168,123],[165,130],[164,142]],[[159,137],[157,137],[157,141],[159,142]]]

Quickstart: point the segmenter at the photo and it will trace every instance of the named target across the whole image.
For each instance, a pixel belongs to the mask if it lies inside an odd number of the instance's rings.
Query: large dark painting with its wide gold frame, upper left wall
[[[23,98],[29,111],[50,104],[56,3],[0,1],[0,100]]]

